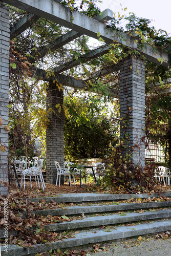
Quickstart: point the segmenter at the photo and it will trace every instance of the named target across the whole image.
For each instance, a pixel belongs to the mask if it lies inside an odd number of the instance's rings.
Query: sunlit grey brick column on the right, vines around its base
[[[120,66],[120,140],[123,156],[131,154],[133,163],[145,166],[145,67],[129,57]]]

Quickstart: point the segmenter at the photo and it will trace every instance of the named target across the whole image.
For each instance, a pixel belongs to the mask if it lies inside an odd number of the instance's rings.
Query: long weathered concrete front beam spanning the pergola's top
[[[114,42],[132,49],[139,49],[132,36],[120,31],[111,31],[102,22],[78,11],[71,12],[68,7],[56,3],[54,0],[5,0],[5,2],[96,39],[98,39],[97,32],[99,32],[106,44]],[[161,65],[168,67],[169,57],[166,52],[161,52],[147,44],[144,45],[141,52],[147,60],[159,63],[158,59],[162,59]]]

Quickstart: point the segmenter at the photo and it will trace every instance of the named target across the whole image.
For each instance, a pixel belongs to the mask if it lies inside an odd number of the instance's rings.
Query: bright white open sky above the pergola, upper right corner
[[[108,8],[126,16],[129,16],[129,12],[134,12],[137,17],[152,19],[150,26],[166,30],[171,36],[171,0],[102,0],[102,4],[98,6],[100,10]],[[126,12],[122,11],[125,7]]]

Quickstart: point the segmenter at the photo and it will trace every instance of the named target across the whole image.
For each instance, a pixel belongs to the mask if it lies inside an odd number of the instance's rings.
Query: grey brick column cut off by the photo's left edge
[[[8,194],[9,10],[0,2],[0,195]],[[7,129],[7,130],[6,130]]]

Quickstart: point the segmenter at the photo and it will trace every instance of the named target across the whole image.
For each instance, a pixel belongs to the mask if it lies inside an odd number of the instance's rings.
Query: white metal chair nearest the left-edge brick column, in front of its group
[[[30,187],[32,187],[31,176],[34,176],[35,180],[37,179],[37,181],[38,181],[38,187],[40,188],[40,184],[39,184],[39,179],[40,179],[42,190],[45,190],[45,188],[46,188],[45,181],[44,181],[44,178],[42,176],[42,171],[41,171],[43,162],[44,162],[44,159],[38,159],[38,160],[33,159],[33,161],[29,162],[29,164],[30,165],[32,164],[32,166],[25,169],[22,173],[23,180],[24,180],[24,189],[26,186],[25,176],[27,175],[27,176],[30,176]],[[36,186],[37,186],[37,182],[36,182]]]

